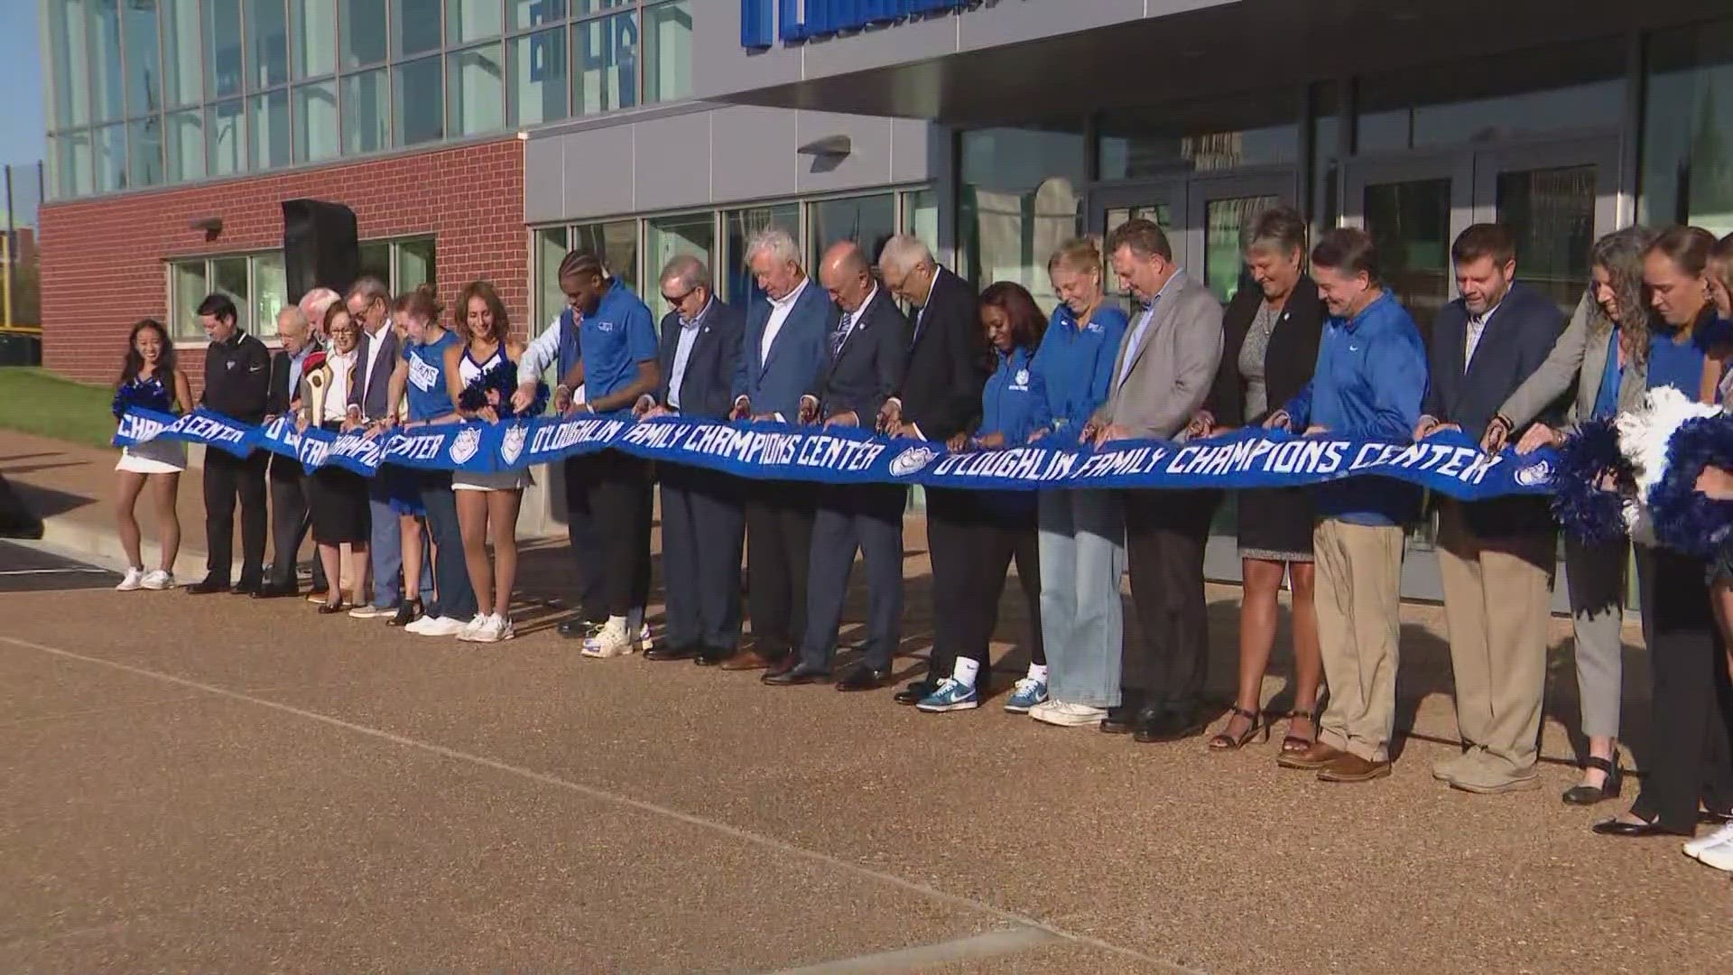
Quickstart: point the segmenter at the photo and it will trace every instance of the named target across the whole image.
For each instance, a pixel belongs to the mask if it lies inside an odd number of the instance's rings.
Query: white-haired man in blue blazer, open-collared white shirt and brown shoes
[[[792,423],[818,370],[837,307],[801,267],[801,248],[782,227],[764,227],[747,243],[747,265],[764,298],[747,311],[747,333],[735,366],[731,420]],[[747,493],[747,611],[752,651],[723,670],[780,673],[799,663],[806,630],[806,569],[813,545],[813,486],[756,481]]]

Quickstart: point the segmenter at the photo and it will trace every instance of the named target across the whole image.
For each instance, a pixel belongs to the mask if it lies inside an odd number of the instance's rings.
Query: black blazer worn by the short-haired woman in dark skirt
[[[1222,364],[1215,371],[1215,385],[1204,399],[1215,422],[1222,427],[1241,427],[1246,418],[1246,376],[1239,373],[1239,352],[1246,345],[1251,321],[1258,317],[1263,304],[1263,291],[1256,286],[1243,286],[1234,300],[1222,312]],[[1270,331],[1270,345],[1263,350],[1263,385],[1269,409],[1263,416],[1249,418],[1262,423],[1272,409],[1281,408],[1312,382],[1312,370],[1317,366],[1317,345],[1324,335],[1324,300],[1317,297],[1317,283],[1301,274],[1282,314]]]

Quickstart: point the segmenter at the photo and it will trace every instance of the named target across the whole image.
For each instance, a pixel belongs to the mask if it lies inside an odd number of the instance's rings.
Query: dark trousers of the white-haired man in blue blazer
[[[742,491],[752,644],[764,659],[778,659],[795,652],[806,635],[806,583],[818,486],[750,481],[742,484]]]

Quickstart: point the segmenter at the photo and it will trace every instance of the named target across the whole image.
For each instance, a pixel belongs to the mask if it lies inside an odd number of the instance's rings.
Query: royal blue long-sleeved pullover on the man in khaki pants
[[[1352,319],[1331,317],[1317,347],[1312,382],[1282,408],[1295,432],[1407,442],[1426,396],[1426,347],[1407,309],[1388,291]],[[1350,524],[1407,524],[1419,514],[1419,486],[1350,477],[1314,489],[1319,517]]]

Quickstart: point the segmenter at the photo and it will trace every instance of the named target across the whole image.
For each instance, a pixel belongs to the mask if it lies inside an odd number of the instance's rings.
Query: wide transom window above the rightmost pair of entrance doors
[[[1355,146],[1360,153],[1468,146],[1617,127],[1624,52],[1624,42],[1601,38],[1364,78]]]

